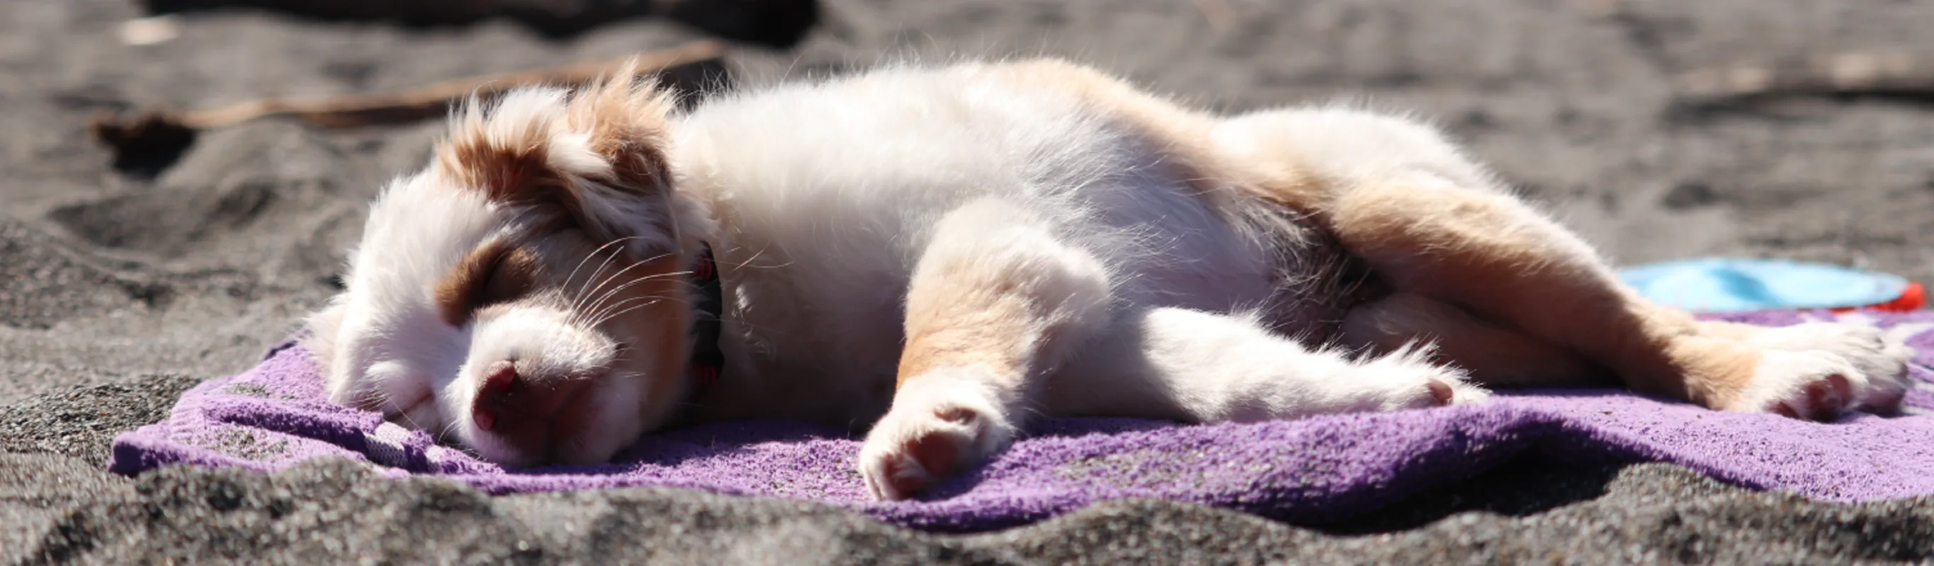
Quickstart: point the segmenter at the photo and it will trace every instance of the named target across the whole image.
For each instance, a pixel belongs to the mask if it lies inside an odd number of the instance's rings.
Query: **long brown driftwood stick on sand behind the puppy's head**
[[[530,85],[576,85],[638,60],[638,73],[652,75],[692,64],[712,64],[725,52],[716,41],[698,41],[669,50],[642,52],[619,60],[580,62],[542,70],[511,71],[429,83],[385,95],[344,95],[321,99],[261,99],[207,110],[149,110],[139,114],[97,114],[89,131],[116,151],[139,153],[147,147],[186,145],[199,129],[215,129],[259,118],[288,116],[319,127],[362,127],[424,120],[447,112],[453,100],[487,97]]]

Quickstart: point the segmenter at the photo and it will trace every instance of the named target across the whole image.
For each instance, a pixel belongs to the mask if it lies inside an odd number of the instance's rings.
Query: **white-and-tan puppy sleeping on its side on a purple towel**
[[[878,498],[1033,415],[1617,382],[1833,419],[1895,410],[1909,355],[1874,328],[1648,303],[1418,122],[1215,116],[1056,60],[683,114],[629,79],[472,104],[375,201],[346,284],[309,319],[337,404],[505,466],[605,462],[671,423],[822,421],[866,431]]]

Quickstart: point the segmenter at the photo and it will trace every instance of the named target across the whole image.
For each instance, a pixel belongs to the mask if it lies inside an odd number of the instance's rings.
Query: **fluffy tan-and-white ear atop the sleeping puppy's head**
[[[474,100],[437,147],[437,170],[489,201],[569,222],[598,241],[630,238],[642,253],[675,251],[679,226],[665,160],[673,108],[636,66],[576,95],[522,89],[495,106]]]

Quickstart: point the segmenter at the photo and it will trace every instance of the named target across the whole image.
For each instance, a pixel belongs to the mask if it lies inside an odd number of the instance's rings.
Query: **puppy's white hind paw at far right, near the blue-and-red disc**
[[[1874,326],[1766,328],[1748,344],[1766,352],[1731,410],[1830,421],[1855,408],[1897,411],[1907,394],[1913,350]]]

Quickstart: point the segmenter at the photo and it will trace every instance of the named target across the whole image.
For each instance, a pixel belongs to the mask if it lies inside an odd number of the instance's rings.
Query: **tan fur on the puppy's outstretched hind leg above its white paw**
[[[1340,195],[1336,236],[1398,288],[1460,305],[1611,367],[1626,386],[1708,408],[1752,379],[1760,354],[1700,334],[1481,191],[1367,185]],[[1509,352],[1507,352],[1509,354]],[[1491,365],[1501,361],[1472,361]]]

